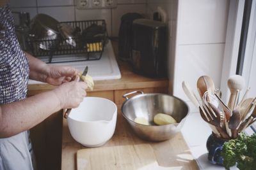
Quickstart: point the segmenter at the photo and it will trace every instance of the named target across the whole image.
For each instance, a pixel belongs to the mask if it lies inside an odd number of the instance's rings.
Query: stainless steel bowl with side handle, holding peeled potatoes
[[[129,99],[131,94],[141,93]],[[122,105],[122,113],[127,122],[131,125],[133,131],[142,139],[149,141],[164,141],[172,138],[180,131],[188,115],[188,105],[181,99],[168,94],[143,94],[135,91],[125,94],[126,101]],[[154,116],[157,113],[171,115],[178,122],[177,124],[156,125]],[[136,117],[144,117],[149,125],[138,124],[134,122]]]

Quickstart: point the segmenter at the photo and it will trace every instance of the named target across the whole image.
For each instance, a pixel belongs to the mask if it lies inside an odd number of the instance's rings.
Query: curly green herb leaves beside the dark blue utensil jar
[[[246,136],[240,133],[236,139],[232,139],[223,145],[221,155],[224,166],[229,169],[237,164],[241,170],[253,170],[256,168],[256,134]]]

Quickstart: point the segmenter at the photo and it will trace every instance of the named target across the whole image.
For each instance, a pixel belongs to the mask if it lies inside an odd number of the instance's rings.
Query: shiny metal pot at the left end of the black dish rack
[[[36,15],[31,20],[29,39],[35,41],[37,48],[43,50],[55,50],[60,43],[60,32],[57,25],[58,20],[45,14]]]

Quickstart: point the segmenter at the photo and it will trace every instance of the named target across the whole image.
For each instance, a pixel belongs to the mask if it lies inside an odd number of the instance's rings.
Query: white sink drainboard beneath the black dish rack
[[[77,55],[71,56],[72,58],[79,58]],[[61,56],[56,57],[58,60],[61,60]],[[63,59],[67,59],[67,56],[63,56]],[[44,57],[41,58],[42,60]],[[80,58],[81,59],[81,58]],[[54,57],[52,59],[54,62]],[[102,53],[102,57],[100,60],[86,60],[86,61],[77,61],[77,62],[59,62],[59,63],[51,63],[51,65],[55,66],[72,66],[78,69],[79,71],[83,71],[84,67],[88,66],[88,74],[92,76],[93,80],[113,80],[121,78],[120,69],[117,65],[115,59],[115,53],[113,52],[113,47],[111,42],[109,41],[106,45],[104,52]],[[29,84],[38,84],[42,83],[40,81],[29,80]]]

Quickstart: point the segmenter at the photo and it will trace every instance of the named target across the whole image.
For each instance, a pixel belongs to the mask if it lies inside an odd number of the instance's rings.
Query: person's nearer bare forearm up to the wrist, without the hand
[[[3,104],[0,106],[0,138],[26,131],[61,108],[58,97],[52,91]]]

